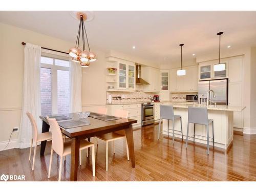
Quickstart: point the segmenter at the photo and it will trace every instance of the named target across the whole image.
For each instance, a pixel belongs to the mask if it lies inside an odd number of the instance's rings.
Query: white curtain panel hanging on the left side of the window
[[[40,103],[40,57],[41,47],[26,44],[24,49],[24,79],[23,79],[23,106],[20,120],[19,148],[30,146],[32,128],[26,113],[30,112],[35,118],[38,132],[41,132],[42,121]]]

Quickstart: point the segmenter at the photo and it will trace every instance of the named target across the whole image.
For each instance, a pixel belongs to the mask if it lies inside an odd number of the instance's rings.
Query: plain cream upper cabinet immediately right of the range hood
[[[142,78],[150,83],[144,86],[144,92],[160,92],[160,70],[152,67],[144,67],[141,71]]]

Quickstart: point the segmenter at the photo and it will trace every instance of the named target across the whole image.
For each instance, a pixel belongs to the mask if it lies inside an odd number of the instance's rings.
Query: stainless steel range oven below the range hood
[[[147,124],[153,124],[155,123],[155,117],[154,117],[154,102],[145,102],[142,103],[141,108],[141,121],[142,126]]]

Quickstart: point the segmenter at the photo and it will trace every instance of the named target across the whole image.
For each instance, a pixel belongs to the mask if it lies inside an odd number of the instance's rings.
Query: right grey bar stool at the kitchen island
[[[188,133],[189,133],[189,123],[194,123],[194,137],[195,142],[195,131],[196,131],[196,124],[205,125],[206,132],[207,132],[207,155],[209,155],[209,124],[211,123],[212,127],[212,141],[214,144],[214,120],[208,119],[208,112],[207,108],[199,108],[194,106],[188,106],[188,121],[187,121],[187,138],[186,138],[186,148],[187,148],[187,141],[188,141]],[[198,135],[201,136],[201,135]],[[189,138],[191,138],[189,137]]]

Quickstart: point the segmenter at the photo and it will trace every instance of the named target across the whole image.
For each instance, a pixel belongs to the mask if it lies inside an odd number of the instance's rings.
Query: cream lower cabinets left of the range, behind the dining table
[[[141,126],[141,104],[107,104],[108,115],[115,115],[116,110],[128,111],[128,118],[137,120],[133,128]]]

